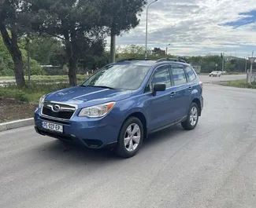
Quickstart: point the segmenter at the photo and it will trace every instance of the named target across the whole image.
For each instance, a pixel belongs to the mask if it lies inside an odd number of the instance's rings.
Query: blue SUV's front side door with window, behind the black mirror
[[[173,104],[170,102],[172,81],[169,68],[168,64],[156,68],[147,85],[147,117],[149,130],[155,130],[174,122],[172,111],[170,111],[170,109],[173,108]],[[166,90],[157,92],[156,96],[153,96],[152,90],[156,83],[165,83]]]

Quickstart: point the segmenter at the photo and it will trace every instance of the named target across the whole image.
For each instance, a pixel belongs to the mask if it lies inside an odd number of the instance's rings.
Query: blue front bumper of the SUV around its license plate
[[[35,131],[41,135],[54,137],[85,146],[87,148],[106,148],[117,144],[121,122],[107,115],[102,119],[87,119],[74,116],[69,121],[49,119],[35,111]],[[63,126],[63,133],[56,133],[42,128],[42,122],[53,122]]]

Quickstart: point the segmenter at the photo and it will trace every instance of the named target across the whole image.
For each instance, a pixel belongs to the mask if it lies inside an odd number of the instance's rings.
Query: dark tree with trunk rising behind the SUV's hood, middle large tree
[[[103,39],[102,0],[27,0],[33,12],[32,28],[62,39],[69,63],[69,84],[76,86],[76,67],[85,46]]]

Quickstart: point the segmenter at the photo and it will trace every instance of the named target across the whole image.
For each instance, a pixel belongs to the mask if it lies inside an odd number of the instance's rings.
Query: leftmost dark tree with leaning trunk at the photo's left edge
[[[0,2],[0,32],[3,42],[12,56],[15,68],[15,78],[18,87],[25,86],[22,54],[18,46],[18,37],[28,28],[26,21],[27,7],[20,0],[2,0]],[[9,31],[9,32],[8,32]]]

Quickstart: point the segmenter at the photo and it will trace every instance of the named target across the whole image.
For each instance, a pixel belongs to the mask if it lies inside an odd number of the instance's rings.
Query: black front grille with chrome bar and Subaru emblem
[[[58,107],[60,108],[59,111],[54,111],[54,105],[56,104],[50,102],[44,103],[42,114],[57,119],[69,120],[76,111],[75,107],[69,106],[67,104],[58,104]]]

